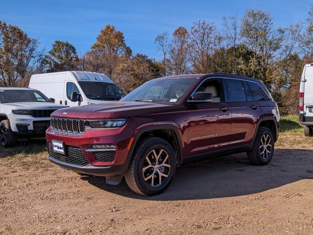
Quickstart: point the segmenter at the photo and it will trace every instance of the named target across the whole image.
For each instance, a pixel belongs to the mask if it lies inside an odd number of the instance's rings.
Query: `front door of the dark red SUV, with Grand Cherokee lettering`
[[[231,133],[231,108],[225,102],[223,84],[222,79],[203,81],[196,92],[212,93],[212,102],[186,105],[189,156],[227,148]]]

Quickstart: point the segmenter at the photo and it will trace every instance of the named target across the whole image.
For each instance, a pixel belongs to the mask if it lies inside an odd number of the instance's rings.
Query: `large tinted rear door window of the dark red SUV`
[[[228,101],[243,102],[247,101],[246,91],[242,80],[225,79]]]

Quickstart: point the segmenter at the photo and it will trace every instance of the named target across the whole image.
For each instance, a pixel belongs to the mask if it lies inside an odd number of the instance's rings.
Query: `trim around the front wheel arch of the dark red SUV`
[[[179,145],[179,155],[180,155],[179,156],[179,158],[180,158],[179,165],[182,164],[182,158],[183,158],[182,142],[181,142],[181,138],[180,138],[179,131],[178,131],[177,127],[175,125],[172,125],[172,124],[155,124],[155,125],[146,126],[146,127],[139,129],[139,131],[137,133],[135,133],[135,135],[134,135],[134,140],[133,140],[132,145],[130,147],[130,150],[128,152],[128,155],[127,155],[128,161],[130,161],[132,156],[133,156],[133,152],[134,152],[135,146],[139,140],[139,137],[147,131],[160,130],[160,129],[170,129],[170,130],[174,131],[178,145]]]

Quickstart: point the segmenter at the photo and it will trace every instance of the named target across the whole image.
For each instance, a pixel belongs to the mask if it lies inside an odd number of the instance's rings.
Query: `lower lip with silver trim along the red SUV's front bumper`
[[[122,165],[111,165],[111,166],[93,166],[91,164],[88,165],[75,165],[68,164],[59,160],[56,160],[49,156],[50,162],[61,166],[63,169],[71,170],[77,173],[88,174],[88,175],[96,175],[96,176],[106,176],[106,177],[114,177],[123,175],[129,165],[129,160]]]

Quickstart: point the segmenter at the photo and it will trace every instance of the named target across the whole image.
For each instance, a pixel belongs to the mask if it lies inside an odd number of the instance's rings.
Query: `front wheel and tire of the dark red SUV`
[[[156,160],[159,162],[156,163]],[[125,180],[134,192],[152,196],[163,192],[170,185],[175,171],[176,158],[172,146],[163,139],[149,137],[134,150]]]

